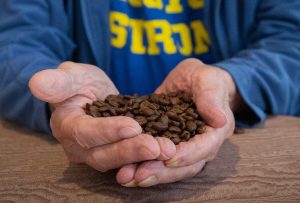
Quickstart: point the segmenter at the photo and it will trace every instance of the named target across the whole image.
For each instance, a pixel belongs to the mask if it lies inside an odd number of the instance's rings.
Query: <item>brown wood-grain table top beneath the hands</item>
[[[69,165],[53,139],[0,120],[0,202],[300,202],[300,119],[233,135],[196,177],[124,188],[115,171]]]

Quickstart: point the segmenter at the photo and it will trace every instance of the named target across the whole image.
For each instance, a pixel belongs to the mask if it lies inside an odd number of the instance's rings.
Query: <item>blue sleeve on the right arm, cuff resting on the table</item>
[[[300,115],[300,1],[260,1],[246,49],[218,62],[233,77],[252,115],[237,119],[253,126],[267,115]]]

